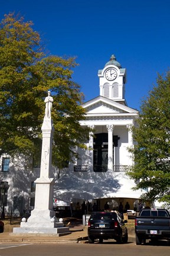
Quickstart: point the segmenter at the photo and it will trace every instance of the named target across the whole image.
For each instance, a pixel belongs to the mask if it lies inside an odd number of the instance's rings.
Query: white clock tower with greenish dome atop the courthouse
[[[123,105],[125,101],[126,69],[117,62],[115,55],[110,57],[109,62],[99,69],[100,96],[110,98]]]

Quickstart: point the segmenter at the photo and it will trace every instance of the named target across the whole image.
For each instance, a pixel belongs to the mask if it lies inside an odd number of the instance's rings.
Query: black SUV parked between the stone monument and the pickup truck
[[[93,212],[88,223],[88,240],[94,243],[99,239],[115,239],[117,243],[128,242],[128,229],[125,226],[127,220],[123,221],[120,214],[114,212]]]

